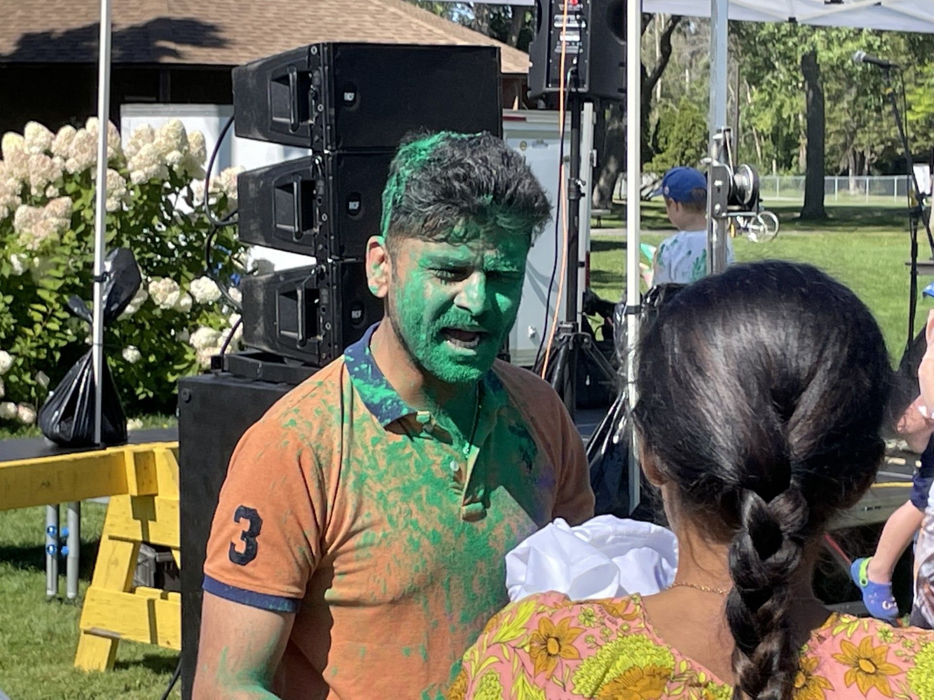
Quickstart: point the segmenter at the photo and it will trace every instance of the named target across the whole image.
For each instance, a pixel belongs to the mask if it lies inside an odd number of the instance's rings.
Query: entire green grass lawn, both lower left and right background
[[[840,207],[821,222],[798,222],[797,209],[775,207],[782,231],[770,244],[735,241],[740,260],[790,259],[811,262],[856,290],[879,319],[893,358],[900,357],[907,334],[909,256],[907,217],[897,208]],[[604,229],[620,227],[616,212],[603,217]],[[658,204],[643,210],[644,241],[658,243],[671,231]],[[591,281],[605,299],[616,301],[625,282],[626,243],[616,234],[594,229]],[[927,244],[920,247],[927,258]],[[921,279],[921,287],[927,280]],[[927,301],[919,304],[919,322]],[[918,326],[920,329],[920,326]],[[173,416],[149,416],[145,427],[174,425]],[[35,428],[7,431],[0,440],[37,435]],[[106,507],[86,503],[83,510],[81,595],[91,579]],[[177,654],[123,642],[118,663],[109,673],[73,668],[78,643],[79,607],[45,600],[45,511],[0,511],[0,690],[11,700],[157,700],[175,668]],[[64,581],[62,581],[64,592]],[[179,697],[176,689],[172,697]]]

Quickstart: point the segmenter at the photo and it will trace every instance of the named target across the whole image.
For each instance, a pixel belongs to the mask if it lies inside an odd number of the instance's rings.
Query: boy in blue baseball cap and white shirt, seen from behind
[[[696,282],[707,273],[707,178],[696,168],[672,168],[655,194],[665,198],[668,220],[678,232],[658,245],[652,284]],[[727,264],[733,264],[729,239]]]

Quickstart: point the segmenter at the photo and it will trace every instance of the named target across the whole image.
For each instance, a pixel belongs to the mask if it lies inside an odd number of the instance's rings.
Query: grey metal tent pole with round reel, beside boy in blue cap
[[[729,0],[710,3],[710,129],[709,150],[717,152],[717,133],[727,126],[727,56],[729,52]],[[714,196],[713,178],[707,178],[707,211]],[[707,218],[707,270],[721,273],[727,267],[727,227],[724,220]]]

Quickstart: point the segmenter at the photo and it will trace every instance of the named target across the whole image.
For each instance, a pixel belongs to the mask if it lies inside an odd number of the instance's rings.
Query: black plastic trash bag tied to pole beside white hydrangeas
[[[130,301],[142,281],[133,252],[127,248],[110,251],[104,263],[104,326],[113,322]],[[78,318],[92,323],[88,305],[78,297],[68,300],[68,309]],[[38,424],[42,434],[60,445],[94,445],[94,370],[93,351],[89,350],[64,375],[39,409]],[[113,445],[126,442],[126,415],[120,405],[106,357],[102,367],[101,442]]]

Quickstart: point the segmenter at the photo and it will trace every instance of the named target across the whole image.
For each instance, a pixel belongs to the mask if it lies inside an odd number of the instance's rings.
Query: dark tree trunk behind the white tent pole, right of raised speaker
[[[642,31],[648,27],[651,15],[643,14]],[[664,73],[668,62],[672,58],[672,34],[678,23],[681,21],[679,15],[672,15],[665,25],[659,39],[660,54],[658,63],[648,73],[645,66],[642,68],[642,122],[643,127],[648,126],[648,117],[652,111],[652,92]],[[591,202],[594,208],[603,209],[613,203],[613,190],[616,188],[616,180],[623,170],[626,162],[626,126],[624,116],[626,115],[626,106],[623,104],[614,104],[610,107],[609,116],[606,119],[606,131],[604,133],[602,144],[603,148],[597,151],[597,163],[600,168],[600,175],[594,181]],[[643,128],[643,146],[645,128]],[[644,149],[643,149],[644,153]]]

